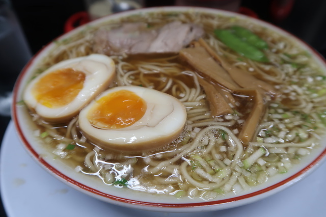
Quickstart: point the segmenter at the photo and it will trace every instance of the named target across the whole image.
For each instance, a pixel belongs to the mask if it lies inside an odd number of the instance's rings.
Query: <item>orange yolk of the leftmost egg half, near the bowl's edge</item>
[[[83,89],[85,77],[82,71],[59,69],[40,78],[32,93],[46,107],[61,107],[69,104]]]

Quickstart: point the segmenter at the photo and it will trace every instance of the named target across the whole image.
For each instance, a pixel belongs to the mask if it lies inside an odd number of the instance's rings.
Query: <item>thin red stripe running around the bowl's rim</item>
[[[178,10],[178,8],[194,9],[196,7],[157,7],[157,9],[164,9],[164,8],[171,8],[171,9],[175,8],[176,10]],[[153,10],[153,9],[155,9],[155,8],[140,9],[140,10],[144,11],[144,12],[151,12],[151,10]],[[215,13],[216,13],[218,11],[223,11],[223,10],[208,9],[206,12],[209,13],[209,11],[215,11]],[[126,13],[126,12],[122,12],[122,13]],[[224,11],[224,13],[225,13],[225,11]],[[237,13],[234,13],[234,12],[227,12],[227,13],[231,13],[231,14],[233,13],[233,14],[236,14],[238,16],[247,17],[245,15],[240,15],[240,14],[237,14]],[[129,13],[127,12],[126,14],[129,14]],[[112,16],[112,15],[108,15],[108,16]],[[250,19],[255,19],[255,18],[251,18],[251,17],[249,17],[249,18]],[[105,19],[105,18],[101,18],[101,20],[102,19]],[[261,21],[261,20],[259,20],[259,21],[263,22],[263,23],[267,23],[265,21]],[[302,41],[301,39],[293,36],[292,34],[288,33],[287,31],[279,28],[278,26],[275,26],[275,25],[270,24],[270,23],[267,23],[267,24],[270,25],[270,26],[273,26],[275,29],[278,29],[281,32],[287,33],[291,37],[296,38],[296,40],[299,41],[300,43],[302,43],[302,44],[306,45],[307,47],[309,47],[311,49],[311,51],[314,53],[314,56],[319,57],[319,59],[322,60],[323,63],[326,65],[326,60],[320,55],[320,53],[315,51],[315,49],[312,48],[309,44],[307,44],[306,42]],[[83,28],[83,26],[85,26],[85,25],[82,25],[79,28]],[[77,29],[79,29],[79,28],[77,28]],[[62,36],[65,36],[65,35],[66,34],[63,34]],[[60,36],[58,38],[61,38],[62,36]],[[17,98],[18,98],[18,89],[20,87],[21,80],[24,77],[26,71],[28,71],[31,64],[34,62],[35,58],[38,57],[40,55],[40,53],[52,43],[53,42],[49,42],[41,50],[39,50],[36,53],[36,55],[34,55],[34,57],[28,62],[28,64],[25,65],[25,67],[21,71],[21,73],[20,73],[20,75],[19,75],[19,77],[18,77],[18,79],[16,81],[14,90],[13,90],[12,118],[13,118],[17,133],[18,133],[21,141],[23,142],[24,146],[28,149],[30,154],[32,154],[32,156],[39,162],[39,164],[41,164],[43,167],[47,168],[51,173],[55,174],[56,176],[62,178],[63,180],[69,182],[70,184],[72,184],[72,185],[74,185],[74,186],[76,186],[76,187],[78,187],[80,189],[83,189],[84,191],[87,191],[88,193],[95,194],[97,196],[101,196],[101,197],[104,197],[106,199],[111,199],[111,200],[114,200],[116,202],[122,202],[122,203],[126,203],[126,204],[134,204],[134,205],[141,205],[141,206],[147,206],[147,207],[188,208],[188,207],[204,207],[204,206],[211,206],[211,205],[222,205],[222,204],[226,204],[226,203],[241,201],[243,199],[254,198],[255,196],[258,196],[258,195],[261,195],[263,193],[270,192],[272,190],[280,188],[280,187],[290,183],[291,181],[295,181],[295,179],[299,179],[299,178],[303,177],[306,174],[307,171],[312,172],[311,169],[314,168],[315,166],[317,166],[318,163],[322,161],[322,158],[324,158],[326,156],[326,148],[324,148],[324,150],[307,167],[303,168],[302,170],[298,171],[297,173],[295,173],[294,175],[288,177],[287,179],[284,179],[284,180],[282,180],[282,181],[280,181],[280,182],[278,182],[276,184],[273,184],[271,186],[268,186],[266,188],[260,189],[259,191],[249,193],[249,194],[246,194],[246,195],[241,195],[241,196],[229,198],[229,199],[205,201],[205,202],[198,202],[198,203],[177,203],[177,204],[174,204],[174,203],[154,203],[154,202],[137,201],[137,200],[131,200],[131,199],[126,199],[126,198],[117,197],[117,196],[113,196],[113,195],[110,195],[110,194],[102,193],[102,192],[98,191],[97,189],[89,187],[89,186],[87,186],[85,184],[82,184],[82,183],[80,183],[80,182],[78,182],[78,181],[64,175],[63,173],[61,173],[60,171],[58,171],[57,169],[55,169],[51,165],[49,165],[42,157],[40,157],[40,155],[34,150],[34,148],[31,146],[31,144],[25,138],[25,136],[24,136],[24,134],[22,132],[22,129],[21,129],[20,125],[19,125],[18,117],[17,117],[17,108],[16,108],[17,105],[16,105],[16,103],[17,103]],[[255,200],[253,200],[253,201],[255,201]],[[246,203],[244,203],[244,204],[246,204]]]

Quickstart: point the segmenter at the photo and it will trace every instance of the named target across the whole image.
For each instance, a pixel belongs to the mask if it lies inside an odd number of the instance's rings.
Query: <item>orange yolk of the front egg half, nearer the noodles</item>
[[[99,128],[119,129],[140,120],[146,112],[146,102],[137,94],[120,90],[107,94],[96,101],[87,118]]]

